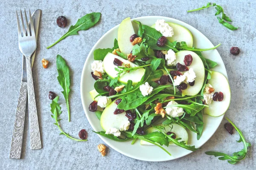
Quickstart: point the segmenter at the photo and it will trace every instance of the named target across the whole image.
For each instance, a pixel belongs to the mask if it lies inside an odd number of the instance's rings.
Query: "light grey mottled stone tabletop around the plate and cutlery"
[[[233,19],[233,24],[239,26],[237,31],[230,31],[218,24],[215,9],[186,13],[186,10],[198,8],[207,3],[205,0],[171,1],[171,0],[2,0],[0,4],[0,169],[256,169],[255,140],[255,83],[256,83],[256,3],[251,0],[217,0],[223,6],[225,13]],[[38,52],[33,68],[35,95],[37,99],[38,117],[41,129],[43,148],[29,149],[28,119],[26,117],[25,135],[23,141],[23,156],[20,160],[9,159],[9,149],[12,136],[12,126],[17,106],[17,95],[20,87],[21,54],[17,44],[17,24],[15,10],[30,8],[32,11],[42,10],[39,29]],[[88,31],[80,31],[79,36],[67,37],[54,47],[48,45],[61,37],[71,24],[84,14],[99,11],[102,18],[99,24]],[[67,28],[58,28],[56,18],[60,15],[67,17]],[[243,132],[247,141],[253,145],[249,148],[245,160],[239,164],[230,165],[212,156],[204,154],[208,150],[218,150],[233,153],[240,150],[242,144],[236,142],[238,133],[230,136],[225,132],[221,123],[217,132],[198,150],[188,156],[166,162],[145,162],[128,158],[113,149],[102,157],[97,145],[102,140],[91,132],[90,124],[84,115],[80,99],[80,77],[84,61],[93,45],[109,29],[119,24],[125,17],[141,17],[161,15],[172,17],[194,26],[201,31],[213,44],[221,42],[218,48],[227,68],[232,93],[230,108],[226,113]],[[241,49],[239,56],[229,53],[232,46]],[[60,92],[57,82],[55,57],[61,54],[68,62],[72,71],[71,122],[61,121],[63,129],[72,136],[77,136],[80,129],[88,130],[88,142],[75,142],[59,136],[58,128],[53,125],[50,116],[48,92]],[[51,63],[48,69],[41,65],[41,59],[46,58]],[[61,97],[62,99],[63,97]],[[61,101],[64,102],[64,101]],[[62,105],[63,109],[66,109]],[[62,118],[67,119],[66,114]]]

